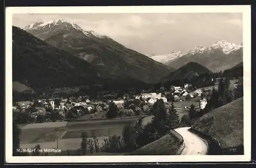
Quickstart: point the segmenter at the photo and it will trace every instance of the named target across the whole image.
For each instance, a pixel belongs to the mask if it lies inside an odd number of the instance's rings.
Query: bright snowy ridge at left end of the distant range
[[[185,55],[185,54],[180,51],[174,51],[172,53],[168,53],[168,54],[164,54],[164,55],[151,56],[151,58],[157,62],[161,62],[164,64],[164,63],[167,63],[176,58],[182,57],[183,55]]]

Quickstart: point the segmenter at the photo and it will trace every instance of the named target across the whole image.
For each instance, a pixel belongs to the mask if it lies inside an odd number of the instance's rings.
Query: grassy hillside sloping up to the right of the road
[[[200,117],[195,127],[214,136],[222,148],[243,145],[243,98],[214,109]]]

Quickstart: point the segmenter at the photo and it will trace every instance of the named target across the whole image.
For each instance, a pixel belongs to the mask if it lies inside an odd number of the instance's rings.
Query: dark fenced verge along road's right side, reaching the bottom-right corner
[[[220,146],[220,142],[215,137],[212,137],[206,134],[201,129],[191,127],[189,131],[198,134],[200,137],[202,137],[208,142],[208,155],[243,155],[244,154],[243,145],[240,145],[238,147],[223,149]]]

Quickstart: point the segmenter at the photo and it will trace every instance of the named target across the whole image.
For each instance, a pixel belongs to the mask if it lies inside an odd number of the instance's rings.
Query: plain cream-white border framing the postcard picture
[[[244,150],[245,155],[223,156],[12,156],[12,14],[14,13],[243,13]],[[114,163],[206,162],[251,159],[251,9],[229,6],[115,6],[115,7],[8,7],[6,8],[6,162],[7,163]]]

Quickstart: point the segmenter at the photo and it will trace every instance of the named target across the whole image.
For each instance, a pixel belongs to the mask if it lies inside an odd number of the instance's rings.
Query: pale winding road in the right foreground
[[[188,131],[190,127],[177,128],[177,131],[184,139],[185,148],[180,155],[206,155],[207,142],[194,133]]]

